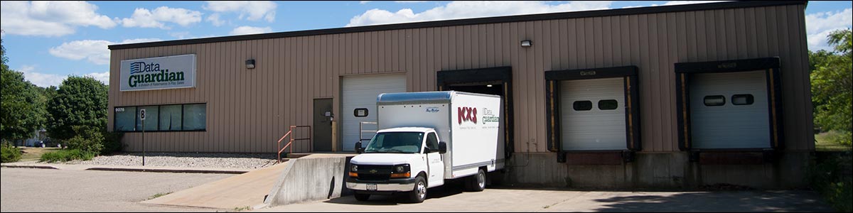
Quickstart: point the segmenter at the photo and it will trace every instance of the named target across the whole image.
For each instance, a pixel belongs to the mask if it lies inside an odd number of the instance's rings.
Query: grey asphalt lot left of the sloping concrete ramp
[[[229,176],[0,168],[0,211],[216,211],[139,202]]]

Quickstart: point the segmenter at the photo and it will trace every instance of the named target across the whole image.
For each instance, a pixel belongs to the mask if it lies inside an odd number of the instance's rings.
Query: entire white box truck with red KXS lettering
[[[427,188],[465,178],[485,188],[486,172],[502,170],[502,101],[497,95],[457,91],[385,93],[376,99],[376,135],[350,160],[346,187],[357,200],[408,193],[415,203]]]

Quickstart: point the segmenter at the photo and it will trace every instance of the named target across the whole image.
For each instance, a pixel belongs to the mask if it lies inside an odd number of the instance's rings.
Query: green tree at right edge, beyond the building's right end
[[[853,131],[853,39],[850,29],[829,34],[834,51],[809,52],[811,94],[815,105],[815,124],[822,130],[838,130],[850,144]]]

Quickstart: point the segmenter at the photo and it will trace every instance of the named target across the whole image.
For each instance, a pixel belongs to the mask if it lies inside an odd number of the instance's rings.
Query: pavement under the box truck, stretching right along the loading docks
[[[402,196],[372,196],[367,202],[345,196],[258,211],[833,211],[811,191],[589,192],[486,188],[483,192],[469,193],[460,188],[431,188],[427,200],[421,204],[409,204]]]

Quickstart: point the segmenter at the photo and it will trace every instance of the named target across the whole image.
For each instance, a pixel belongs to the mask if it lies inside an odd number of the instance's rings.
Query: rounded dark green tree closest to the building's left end
[[[91,77],[69,76],[48,101],[47,112],[51,138],[73,138],[78,135],[74,126],[106,130],[107,85]]]

